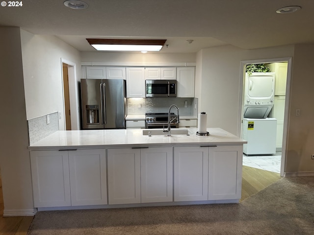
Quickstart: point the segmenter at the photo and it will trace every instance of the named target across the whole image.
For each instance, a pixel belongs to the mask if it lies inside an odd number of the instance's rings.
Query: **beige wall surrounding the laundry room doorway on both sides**
[[[242,50],[233,46],[206,48],[197,54],[197,67],[201,74],[199,111],[208,115],[209,127],[221,127],[233,134],[239,133],[241,118],[238,116],[239,91],[242,86],[241,61],[292,57],[290,101],[288,106],[288,141],[285,172],[313,174],[314,160],[314,79],[311,68],[314,63],[314,45],[290,45],[255,50]],[[199,59],[199,56],[202,59]],[[222,92],[224,91],[224,92]],[[295,110],[301,116],[295,116]]]

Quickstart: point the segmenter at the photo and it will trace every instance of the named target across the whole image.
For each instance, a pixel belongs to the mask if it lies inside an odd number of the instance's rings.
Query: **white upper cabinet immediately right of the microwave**
[[[178,67],[177,81],[177,97],[194,97],[195,67]]]

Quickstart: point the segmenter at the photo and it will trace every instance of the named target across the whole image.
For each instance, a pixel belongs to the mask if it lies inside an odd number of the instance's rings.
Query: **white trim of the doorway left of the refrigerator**
[[[61,57],[61,70],[63,70],[62,64],[68,65],[68,76],[69,76],[69,96],[70,96],[70,109],[71,112],[71,129],[79,130],[79,109],[78,109],[78,82],[77,82],[77,68],[76,63],[63,59]],[[62,91],[63,91],[63,121],[65,123],[65,105],[64,105],[64,89],[63,89],[63,72],[62,74]],[[74,112],[75,111],[75,112]]]

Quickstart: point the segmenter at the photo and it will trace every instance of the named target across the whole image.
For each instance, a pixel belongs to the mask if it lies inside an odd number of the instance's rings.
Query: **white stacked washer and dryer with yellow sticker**
[[[242,138],[246,155],[276,153],[277,119],[268,118],[274,106],[275,73],[245,74]]]

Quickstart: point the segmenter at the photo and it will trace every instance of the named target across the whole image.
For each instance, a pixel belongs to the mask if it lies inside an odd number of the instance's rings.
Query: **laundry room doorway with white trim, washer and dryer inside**
[[[243,165],[284,176],[291,58],[241,61]]]

